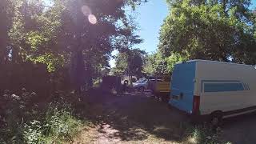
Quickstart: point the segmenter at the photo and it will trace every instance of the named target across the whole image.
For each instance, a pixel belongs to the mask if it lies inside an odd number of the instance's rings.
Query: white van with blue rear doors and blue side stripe
[[[254,66],[206,60],[182,62],[174,66],[171,84],[171,106],[190,115],[207,116],[214,123],[256,111]]]

